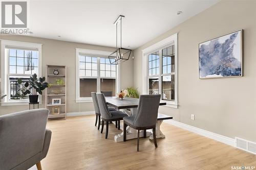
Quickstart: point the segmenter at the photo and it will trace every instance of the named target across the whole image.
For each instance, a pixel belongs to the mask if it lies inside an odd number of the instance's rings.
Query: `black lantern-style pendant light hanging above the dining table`
[[[132,50],[127,48],[122,48],[122,18],[123,15],[119,15],[114,25],[116,25],[116,50],[109,55],[109,60],[111,64],[119,64],[123,61],[127,61],[130,58]],[[118,25],[120,24],[120,47],[118,46]]]

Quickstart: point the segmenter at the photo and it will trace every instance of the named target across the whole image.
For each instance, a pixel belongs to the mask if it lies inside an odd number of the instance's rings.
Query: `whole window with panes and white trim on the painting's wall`
[[[144,49],[143,58],[143,93],[177,108],[177,34]]]

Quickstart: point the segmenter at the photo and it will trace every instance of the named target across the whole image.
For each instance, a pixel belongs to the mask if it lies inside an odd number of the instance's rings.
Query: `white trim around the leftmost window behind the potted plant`
[[[41,62],[41,53],[42,53],[42,44],[31,43],[31,42],[22,42],[22,41],[10,41],[10,40],[0,40],[1,41],[1,93],[8,94],[8,85],[7,80],[8,73],[8,56],[6,54],[6,46],[12,46],[17,48],[30,48],[38,50],[38,77],[42,75],[42,62]],[[28,105],[28,100],[9,100],[8,98],[2,99],[2,106],[14,106],[14,105]],[[39,104],[41,104],[41,95],[39,95]]]

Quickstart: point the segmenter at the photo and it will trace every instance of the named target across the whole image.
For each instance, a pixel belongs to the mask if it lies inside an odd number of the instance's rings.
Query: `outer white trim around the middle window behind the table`
[[[86,54],[86,55],[93,55],[98,57],[108,57],[112,52],[108,51],[98,51],[98,50],[89,50],[89,49],[82,49],[82,48],[76,48],[76,103],[88,103],[93,102],[91,97],[88,98],[80,98],[80,82],[79,82],[79,54]],[[99,61],[97,62],[98,65],[100,64]],[[99,68],[99,66],[98,66]],[[116,68],[116,78],[108,78],[108,79],[116,79],[116,91],[120,91],[120,64],[118,64]],[[98,70],[99,74],[99,70]],[[95,77],[90,77],[95,78]],[[100,90],[100,83],[97,82],[97,91]]]

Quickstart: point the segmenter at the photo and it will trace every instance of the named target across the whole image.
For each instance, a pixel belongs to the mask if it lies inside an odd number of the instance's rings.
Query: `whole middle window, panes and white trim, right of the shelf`
[[[116,95],[118,66],[111,64],[109,54],[110,52],[76,49],[77,102],[91,102],[91,92],[94,91]]]

